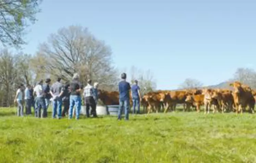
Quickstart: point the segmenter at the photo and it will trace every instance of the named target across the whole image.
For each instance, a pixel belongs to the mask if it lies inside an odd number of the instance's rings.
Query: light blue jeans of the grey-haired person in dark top
[[[70,100],[69,100],[69,118],[72,118],[72,114],[73,114],[73,108],[74,106],[76,106],[76,112],[75,112],[75,116],[76,119],[79,119],[79,115],[80,115],[80,110],[81,110],[81,97],[78,95],[70,95]]]

